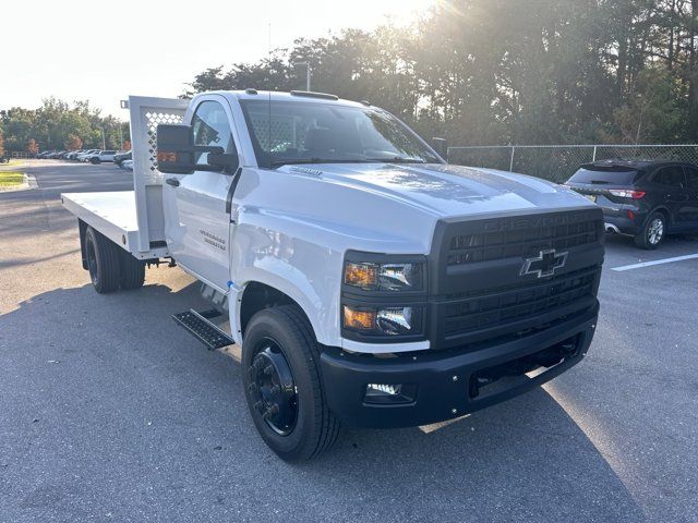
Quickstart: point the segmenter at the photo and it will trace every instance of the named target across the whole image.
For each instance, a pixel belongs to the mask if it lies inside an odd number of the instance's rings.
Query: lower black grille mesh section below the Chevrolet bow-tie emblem
[[[597,267],[568,272],[538,284],[526,283],[448,302],[444,305],[446,337],[494,328],[543,316],[566,305],[593,297]]]

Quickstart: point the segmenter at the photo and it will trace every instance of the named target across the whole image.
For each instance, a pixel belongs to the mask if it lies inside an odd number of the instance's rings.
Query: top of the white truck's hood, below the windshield
[[[401,200],[437,217],[593,205],[555,183],[494,169],[442,163],[322,163],[285,166],[281,170]]]

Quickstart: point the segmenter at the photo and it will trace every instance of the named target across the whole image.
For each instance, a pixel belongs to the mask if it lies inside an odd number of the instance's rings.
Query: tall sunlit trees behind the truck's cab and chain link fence
[[[695,143],[698,0],[442,0],[411,27],[300,38],[210,89],[369,100],[453,145]]]

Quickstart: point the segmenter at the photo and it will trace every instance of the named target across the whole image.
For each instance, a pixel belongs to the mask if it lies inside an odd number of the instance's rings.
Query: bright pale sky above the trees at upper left
[[[2,0],[0,109],[56,96],[125,119],[129,95],[176,97],[205,69],[298,37],[408,24],[436,0]],[[198,8],[196,5],[200,5]],[[264,88],[264,86],[255,86]]]

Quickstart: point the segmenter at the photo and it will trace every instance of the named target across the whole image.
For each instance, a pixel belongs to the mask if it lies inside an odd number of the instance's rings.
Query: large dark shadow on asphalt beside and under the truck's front
[[[543,389],[429,434],[345,429],[318,460],[281,462],[239,366],[169,317],[198,306],[195,288],[57,289],[0,316],[8,521],[645,519]]]

